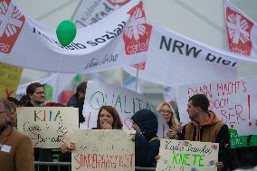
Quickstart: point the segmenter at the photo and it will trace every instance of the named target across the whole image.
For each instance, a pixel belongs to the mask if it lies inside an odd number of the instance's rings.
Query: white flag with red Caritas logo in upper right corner
[[[257,58],[257,24],[229,0],[224,0],[228,49]]]

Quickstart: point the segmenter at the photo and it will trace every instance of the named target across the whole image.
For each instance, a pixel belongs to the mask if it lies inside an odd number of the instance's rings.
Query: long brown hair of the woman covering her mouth
[[[119,118],[119,113],[118,111],[113,108],[112,106],[102,106],[100,107],[100,110],[98,112],[98,117],[97,117],[97,128],[100,128],[100,112],[102,109],[105,109],[106,111],[108,111],[112,118],[113,118],[113,123],[111,125],[111,127],[113,129],[121,129],[123,127],[123,125],[121,124],[121,120]]]

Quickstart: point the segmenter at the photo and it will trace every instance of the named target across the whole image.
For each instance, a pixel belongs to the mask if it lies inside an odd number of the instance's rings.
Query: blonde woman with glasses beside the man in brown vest
[[[182,127],[181,123],[176,119],[176,113],[171,104],[167,101],[161,102],[157,107],[157,111],[159,115],[167,121],[167,125],[170,128],[167,131],[167,137],[177,138],[176,134],[182,129]]]

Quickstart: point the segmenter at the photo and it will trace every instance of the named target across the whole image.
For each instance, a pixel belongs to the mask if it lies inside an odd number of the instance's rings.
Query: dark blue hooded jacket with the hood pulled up
[[[141,109],[131,119],[141,129],[141,132],[137,132],[135,136],[135,165],[154,167],[154,158],[158,155],[160,147],[160,141],[157,138],[157,116],[149,109]]]

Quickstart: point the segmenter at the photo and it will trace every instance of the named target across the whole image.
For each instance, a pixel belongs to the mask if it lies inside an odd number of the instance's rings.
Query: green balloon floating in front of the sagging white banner
[[[76,33],[77,29],[75,24],[69,20],[62,21],[56,30],[57,38],[64,47],[68,46],[74,40]]]

